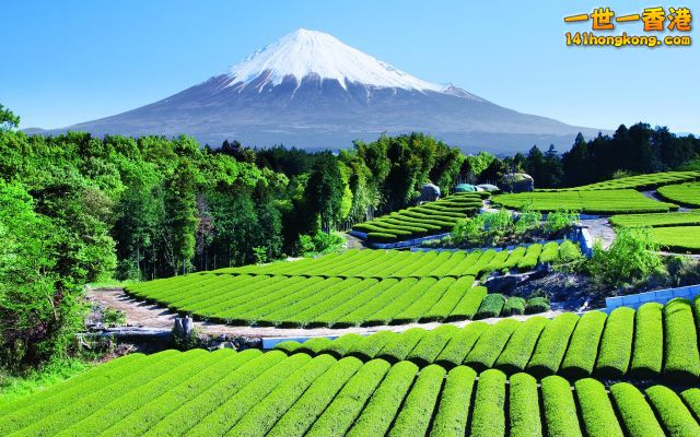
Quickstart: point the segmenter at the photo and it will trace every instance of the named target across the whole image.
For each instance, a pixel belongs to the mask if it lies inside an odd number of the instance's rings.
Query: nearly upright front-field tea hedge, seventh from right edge
[[[471,418],[472,437],[505,435],[505,374],[490,369],[479,375]]]

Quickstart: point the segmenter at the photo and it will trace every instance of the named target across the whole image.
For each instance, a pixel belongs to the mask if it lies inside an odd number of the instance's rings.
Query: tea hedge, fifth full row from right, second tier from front
[[[564,312],[557,316],[545,327],[537,341],[535,353],[527,364],[527,369],[530,374],[542,377],[553,375],[559,370],[569,345],[569,338],[578,322],[579,316],[572,312]]]

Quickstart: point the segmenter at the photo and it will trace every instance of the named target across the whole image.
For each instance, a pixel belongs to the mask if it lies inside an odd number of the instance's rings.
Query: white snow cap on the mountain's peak
[[[247,84],[262,73],[268,74],[264,84],[272,85],[280,84],[289,75],[301,82],[306,75],[317,74],[320,79],[337,80],[343,88],[347,88],[347,83],[355,82],[376,87],[444,90],[442,85],[421,81],[331,35],[304,28],[256,51],[226,72],[231,85]]]

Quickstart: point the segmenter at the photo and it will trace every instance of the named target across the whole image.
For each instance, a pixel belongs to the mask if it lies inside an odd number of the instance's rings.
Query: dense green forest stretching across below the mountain
[[[323,252],[342,243],[335,231],[415,204],[429,181],[447,193],[522,170],[538,188],[568,187],[692,166],[700,154],[695,137],[644,123],[579,135],[563,154],[497,157],[422,133],[310,153],[184,135],[27,135],[19,122],[0,106],[0,365],[15,369],[74,346],[86,283]]]

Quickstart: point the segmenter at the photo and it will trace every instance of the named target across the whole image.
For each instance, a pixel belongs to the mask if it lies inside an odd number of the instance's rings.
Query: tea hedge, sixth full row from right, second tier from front
[[[495,362],[495,367],[509,375],[522,371],[529,362],[537,340],[547,323],[549,319],[538,316],[520,323]]]

